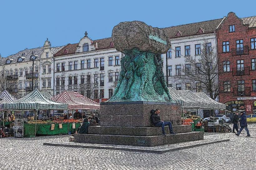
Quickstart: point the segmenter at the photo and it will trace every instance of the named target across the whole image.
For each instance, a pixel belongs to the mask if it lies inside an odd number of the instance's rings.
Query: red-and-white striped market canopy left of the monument
[[[51,100],[68,104],[68,109],[100,109],[99,103],[73,91],[61,92],[60,94],[52,97]]]

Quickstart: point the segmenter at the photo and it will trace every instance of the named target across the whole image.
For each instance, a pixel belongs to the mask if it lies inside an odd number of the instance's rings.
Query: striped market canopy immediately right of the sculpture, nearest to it
[[[191,100],[191,98],[186,97],[174,87],[168,87],[171,98],[176,102],[180,103],[181,106],[186,108],[197,108],[200,106],[200,103],[197,101]]]

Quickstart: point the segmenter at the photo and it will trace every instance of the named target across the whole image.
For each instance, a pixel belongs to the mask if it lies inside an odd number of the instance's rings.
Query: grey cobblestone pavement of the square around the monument
[[[230,139],[164,154],[139,153],[104,149],[81,149],[43,146],[44,142],[63,142],[67,135],[37,138],[0,139],[1,170],[61,169],[170,169],[170,170],[255,170],[256,124],[249,125],[252,137],[233,133],[211,135],[205,139]]]

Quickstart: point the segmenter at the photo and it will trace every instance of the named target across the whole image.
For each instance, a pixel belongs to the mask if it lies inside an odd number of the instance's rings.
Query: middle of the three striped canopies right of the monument
[[[178,90],[178,92],[182,93],[183,95],[185,95],[186,97],[190,98],[193,101],[199,102],[200,103],[200,109],[213,109],[214,108],[213,103],[202,99],[201,97],[197,96],[196,94],[194,94],[190,90]]]

